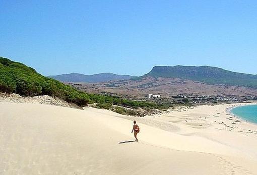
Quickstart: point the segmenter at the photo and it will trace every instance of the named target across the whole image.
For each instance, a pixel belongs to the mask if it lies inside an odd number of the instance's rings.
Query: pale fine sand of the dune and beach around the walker
[[[231,124],[225,109],[143,118],[1,102],[0,174],[257,174],[257,126]]]

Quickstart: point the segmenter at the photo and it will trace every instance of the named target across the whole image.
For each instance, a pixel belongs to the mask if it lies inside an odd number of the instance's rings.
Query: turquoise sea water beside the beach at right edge
[[[236,107],[231,110],[231,113],[249,122],[257,123],[257,105]]]

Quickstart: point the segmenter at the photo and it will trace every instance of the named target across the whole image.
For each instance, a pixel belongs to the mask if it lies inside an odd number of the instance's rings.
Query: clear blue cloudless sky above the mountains
[[[155,65],[257,74],[257,1],[0,1],[0,56],[43,75]]]

